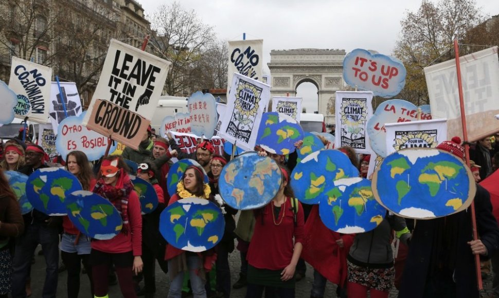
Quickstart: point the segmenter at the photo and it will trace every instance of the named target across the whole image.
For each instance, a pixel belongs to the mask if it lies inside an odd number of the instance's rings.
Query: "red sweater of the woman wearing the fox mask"
[[[133,251],[134,256],[142,255],[142,216],[137,193],[132,191],[128,198],[128,217],[131,231],[119,233],[109,240],[92,241],[92,249],[108,253]]]

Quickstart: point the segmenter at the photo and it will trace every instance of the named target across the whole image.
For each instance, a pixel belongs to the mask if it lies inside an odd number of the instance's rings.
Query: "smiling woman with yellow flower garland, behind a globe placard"
[[[177,192],[171,196],[168,205],[183,198],[210,199],[210,186],[208,183],[203,182],[203,177],[203,170],[199,166],[191,165],[187,167],[182,180],[177,184]],[[189,272],[194,298],[206,298],[206,289],[204,287],[206,282],[205,270],[209,271],[211,269],[212,262],[210,262],[210,258],[213,258],[213,256],[215,254],[212,253],[212,250],[195,253],[168,244],[165,256],[165,259],[168,260],[168,273],[171,281],[168,298],[180,298],[182,296],[182,283],[185,272]]]

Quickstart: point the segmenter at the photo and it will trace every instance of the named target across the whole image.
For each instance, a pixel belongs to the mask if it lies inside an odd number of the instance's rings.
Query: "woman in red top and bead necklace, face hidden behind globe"
[[[266,296],[295,296],[294,274],[302,250],[304,213],[289,184],[289,172],[283,167],[281,172],[276,196],[255,210],[255,230],[247,253],[247,298],[261,297],[265,288]]]

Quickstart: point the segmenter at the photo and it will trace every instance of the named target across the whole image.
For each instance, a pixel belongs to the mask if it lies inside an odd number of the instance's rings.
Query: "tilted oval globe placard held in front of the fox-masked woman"
[[[118,235],[123,221],[113,204],[89,191],[73,192],[66,198],[67,216],[83,234],[99,240]]]

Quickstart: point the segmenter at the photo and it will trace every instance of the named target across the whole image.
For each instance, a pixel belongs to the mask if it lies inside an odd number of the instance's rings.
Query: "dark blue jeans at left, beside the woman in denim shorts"
[[[33,224],[26,227],[24,234],[15,241],[12,260],[12,298],[26,297],[26,280],[31,267],[31,257],[35,248],[41,244],[45,257],[46,272],[43,298],[52,298],[57,293],[57,269],[59,266],[59,233],[57,228]]]

